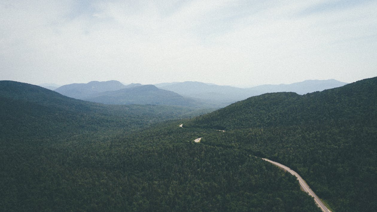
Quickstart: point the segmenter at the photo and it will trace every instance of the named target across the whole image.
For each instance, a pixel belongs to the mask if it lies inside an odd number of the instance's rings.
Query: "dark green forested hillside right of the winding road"
[[[377,77],[307,95],[264,94],[185,126],[227,130],[202,142],[291,167],[334,211],[376,211],[376,94]]]

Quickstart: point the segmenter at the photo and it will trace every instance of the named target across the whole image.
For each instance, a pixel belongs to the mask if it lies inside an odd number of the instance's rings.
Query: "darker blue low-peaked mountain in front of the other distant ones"
[[[102,92],[96,97],[84,98],[84,100],[104,104],[158,104],[188,107],[202,104],[191,98],[182,97],[175,92],[159,89],[151,84]]]

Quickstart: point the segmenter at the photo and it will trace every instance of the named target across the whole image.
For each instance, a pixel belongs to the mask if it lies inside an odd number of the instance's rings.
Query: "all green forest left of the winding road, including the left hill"
[[[193,142],[218,131],[159,122],[195,111],[106,106],[12,81],[0,94],[1,211],[320,211],[272,164]]]

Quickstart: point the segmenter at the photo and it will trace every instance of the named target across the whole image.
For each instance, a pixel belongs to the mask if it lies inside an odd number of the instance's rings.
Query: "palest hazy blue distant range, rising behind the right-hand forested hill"
[[[306,80],[293,84],[261,85],[242,89],[232,86],[219,86],[215,84],[185,81],[182,83],[161,85],[159,88],[173,91],[183,96],[209,100],[222,106],[226,106],[235,101],[244,100],[248,97],[265,93],[296,92],[297,94],[306,94],[309,92],[340,87],[345,84],[347,83],[337,80]]]

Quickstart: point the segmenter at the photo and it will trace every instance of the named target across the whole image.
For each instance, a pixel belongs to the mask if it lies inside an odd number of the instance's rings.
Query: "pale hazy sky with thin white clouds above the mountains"
[[[375,0],[0,2],[0,80],[239,87],[377,76]]]

